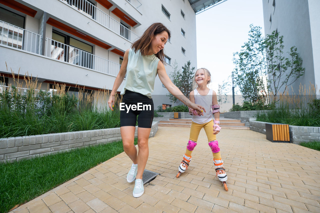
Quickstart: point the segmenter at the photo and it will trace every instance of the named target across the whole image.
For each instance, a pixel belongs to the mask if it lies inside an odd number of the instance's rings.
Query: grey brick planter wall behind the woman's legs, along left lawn
[[[154,137],[157,130],[158,122],[152,122],[149,138]],[[138,136],[138,126],[134,136]],[[118,140],[121,140],[120,128],[0,138],[0,162],[20,161]]]

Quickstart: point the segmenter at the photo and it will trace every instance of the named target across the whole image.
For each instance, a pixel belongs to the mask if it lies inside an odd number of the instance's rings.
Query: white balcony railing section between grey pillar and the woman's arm
[[[89,52],[60,43],[50,38],[46,38],[45,41],[44,54],[49,58],[65,61],[73,65],[86,67],[112,76],[117,76],[120,70],[120,64],[115,62],[103,59]]]

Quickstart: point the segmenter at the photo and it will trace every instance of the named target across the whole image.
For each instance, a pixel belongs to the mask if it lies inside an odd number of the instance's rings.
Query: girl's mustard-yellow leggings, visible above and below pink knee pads
[[[198,124],[195,122],[191,123],[191,129],[190,129],[190,137],[189,140],[197,142],[200,130],[204,128],[205,133],[207,134],[208,143],[210,141],[216,140],[216,135],[213,134],[213,120],[204,123],[204,124]],[[191,156],[192,151],[186,149],[186,154]],[[221,159],[220,152],[212,153],[214,159]]]

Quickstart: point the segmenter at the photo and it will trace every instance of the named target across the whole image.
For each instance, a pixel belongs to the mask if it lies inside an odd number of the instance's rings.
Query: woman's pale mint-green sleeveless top
[[[126,90],[130,90],[151,99],[159,60],[155,54],[142,56],[139,50],[135,53],[130,49],[127,76],[120,94],[123,95]]]

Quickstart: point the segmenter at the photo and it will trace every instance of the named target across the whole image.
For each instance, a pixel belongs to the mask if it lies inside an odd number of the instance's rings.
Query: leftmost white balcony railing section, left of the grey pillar
[[[0,44],[40,54],[41,35],[0,20]]]

